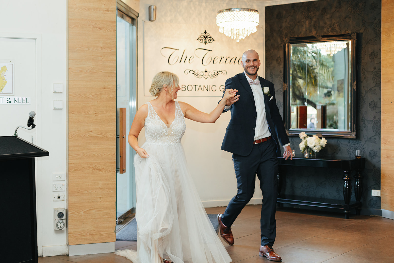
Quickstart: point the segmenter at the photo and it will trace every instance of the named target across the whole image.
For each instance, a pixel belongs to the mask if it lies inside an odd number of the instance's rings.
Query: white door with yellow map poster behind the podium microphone
[[[0,37],[0,50],[0,136],[11,136],[36,112],[36,39]],[[18,137],[36,144],[36,129],[19,128]]]

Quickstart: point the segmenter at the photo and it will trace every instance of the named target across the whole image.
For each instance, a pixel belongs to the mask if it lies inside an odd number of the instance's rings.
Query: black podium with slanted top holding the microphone
[[[0,136],[1,262],[38,263],[34,158],[48,155],[21,138]]]

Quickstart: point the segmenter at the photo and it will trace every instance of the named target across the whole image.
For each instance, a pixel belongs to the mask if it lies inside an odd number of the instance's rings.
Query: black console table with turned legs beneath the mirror
[[[293,204],[293,205],[303,205],[309,207],[320,207],[336,209],[339,211],[343,211],[345,213],[345,218],[349,218],[349,211],[351,209],[356,209],[356,214],[360,215],[361,209],[361,194],[362,194],[362,186],[361,186],[361,172],[364,170],[365,166],[365,158],[360,159],[351,159],[349,157],[336,157],[332,158],[293,158],[293,160],[287,159],[285,160],[283,157],[278,157],[279,160],[279,170],[278,170],[278,205],[280,203]],[[342,170],[343,172],[343,194],[344,200],[329,200],[329,199],[320,199],[320,198],[309,198],[303,196],[290,196],[281,194],[282,190],[282,178],[285,176],[283,172],[281,172],[281,167],[283,166],[307,166],[307,167],[320,167],[320,168],[338,168],[338,170]],[[350,203],[351,198],[351,178],[350,173],[355,171],[355,197],[356,202]]]

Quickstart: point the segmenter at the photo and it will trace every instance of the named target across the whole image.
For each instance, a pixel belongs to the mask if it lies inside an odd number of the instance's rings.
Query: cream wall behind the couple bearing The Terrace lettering
[[[257,32],[236,43],[230,37],[219,33],[216,26],[216,12],[233,7],[227,0],[217,1],[177,1],[177,0],[141,0],[138,17],[138,107],[154,99],[149,93],[153,76],[162,70],[176,73],[180,78],[180,86],[188,84],[224,85],[227,78],[243,72],[241,65],[222,63],[204,63],[196,48],[212,50],[208,56],[242,56],[242,53],[253,48],[260,54],[262,65],[258,74],[264,74],[264,5],[263,2],[250,1],[254,9],[260,13],[260,25]],[[241,4],[241,2],[240,2]],[[246,4],[244,2],[243,4]],[[155,5],[156,21],[148,19],[148,7]],[[244,7],[244,6],[242,6]],[[250,7],[250,6],[248,6]],[[180,11],[182,10],[182,11]],[[197,37],[206,30],[215,40],[213,43],[199,43]],[[167,62],[171,51],[162,47],[178,48],[172,58],[182,56],[182,63],[169,65]],[[195,52],[197,54],[195,54]],[[165,56],[163,56],[164,54]],[[186,63],[184,58],[187,56]],[[189,58],[194,56],[192,62]],[[197,58],[199,56],[199,58]],[[206,65],[208,64],[208,65]],[[186,74],[186,69],[204,71],[225,70],[227,75],[215,78],[196,78]],[[219,90],[219,89],[217,89]],[[190,94],[191,93],[191,94]],[[203,112],[211,112],[221,99],[222,92],[178,91],[177,101],[191,104]],[[207,96],[208,95],[208,96]],[[232,154],[222,151],[221,144],[229,124],[230,113],[222,114],[216,123],[197,123],[186,119],[186,132],[182,138],[188,168],[204,207],[226,206],[237,193],[237,182],[232,162]],[[145,142],[144,130],[139,136],[139,145]],[[251,203],[262,203],[262,193],[256,184],[255,195]]]

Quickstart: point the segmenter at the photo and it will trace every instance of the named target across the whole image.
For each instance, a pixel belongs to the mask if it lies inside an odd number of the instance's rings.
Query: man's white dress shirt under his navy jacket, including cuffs
[[[246,76],[246,79],[252,80],[249,78],[245,72],[243,72]],[[256,74],[256,80],[258,80],[258,75]],[[254,80],[252,80],[254,81]],[[255,128],[255,138],[254,140],[262,139],[271,136],[271,132],[269,132],[268,128],[268,122],[267,122],[267,116],[266,116],[266,106],[264,103],[264,93],[263,89],[261,87],[261,84],[251,84],[250,85],[252,93],[253,93],[253,98],[255,99],[255,105],[256,105],[256,128]],[[232,105],[230,106],[225,106],[225,110],[229,110]],[[286,144],[283,145],[283,147],[290,145]]]

